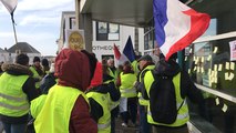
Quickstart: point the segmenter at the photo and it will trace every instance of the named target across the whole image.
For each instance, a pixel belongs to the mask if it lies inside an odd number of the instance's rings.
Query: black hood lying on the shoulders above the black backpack
[[[160,75],[174,76],[181,71],[179,65],[174,60],[165,61],[161,59],[154,69],[154,72]]]

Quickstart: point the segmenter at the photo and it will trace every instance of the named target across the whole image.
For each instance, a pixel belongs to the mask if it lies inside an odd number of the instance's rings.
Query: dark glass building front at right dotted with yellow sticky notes
[[[236,61],[229,45],[236,41],[235,4],[235,0],[193,1],[189,6],[212,20],[205,34],[185,49],[185,69],[203,91],[207,121],[224,133],[236,132]]]

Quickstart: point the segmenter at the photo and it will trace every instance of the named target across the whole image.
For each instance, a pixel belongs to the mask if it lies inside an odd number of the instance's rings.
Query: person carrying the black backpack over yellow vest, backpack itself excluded
[[[152,116],[158,114],[152,114],[148,104],[147,122],[153,125],[153,133],[188,133],[186,123],[189,120],[189,114],[186,98],[188,98],[193,103],[198,103],[198,105],[204,106],[204,99],[202,92],[197,90],[197,88],[191,81],[191,78],[187,72],[181,70],[179,65],[175,62],[177,54],[175,53],[170,58],[168,61],[164,61],[165,59],[161,59],[160,62],[162,62],[163,60],[163,62],[166,63],[158,63],[155,70],[162,75],[173,76],[173,83],[175,86],[176,94],[176,106],[179,108],[177,111],[177,116],[175,122],[172,124],[155,122]],[[144,76],[144,85],[147,95],[143,94],[144,99],[151,99],[150,90],[153,82],[154,75],[152,71],[147,71]]]

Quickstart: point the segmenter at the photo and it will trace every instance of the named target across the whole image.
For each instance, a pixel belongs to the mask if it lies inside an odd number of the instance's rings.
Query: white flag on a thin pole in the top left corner
[[[14,10],[17,8],[18,4],[18,0],[0,0],[3,6],[8,9],[8,11],[11,14],[11,21],[12,21],[12,25],[13,25],[13,31],[14,31],[14,40],[16,40],[16,44],[18,43],[18,38],[17,38],[17,32],[16,32],[16,23],[14,23],[14,18],[13,18],[13,13]]]

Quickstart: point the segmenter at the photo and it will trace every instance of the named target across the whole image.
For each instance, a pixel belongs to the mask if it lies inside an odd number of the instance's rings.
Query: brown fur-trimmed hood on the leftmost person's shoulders
[[[3,63],[1,65],[1,69],[3,72],[7,72],[12,75],[30,75],[30,76],[33,75],[29,66],[21,65],[18,63]]]

